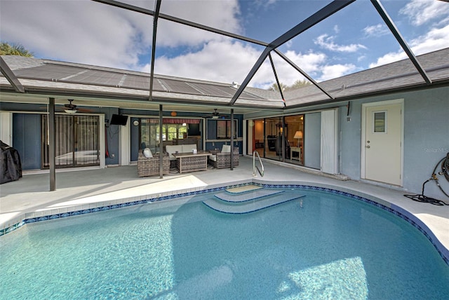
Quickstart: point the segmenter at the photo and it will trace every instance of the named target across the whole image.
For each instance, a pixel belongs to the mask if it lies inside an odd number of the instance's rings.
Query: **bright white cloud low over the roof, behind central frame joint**
[[[247,46],[241,42],[231,41],[210,41],[203,48],[196,52],[179,55],[177,57],[159,57],[155,64],[156,74],[166,74],[170,76],[180,76],[192,79],[202,79],[208,81],[228,82],[236,81],[242,83],[243,79],[253,67],[262,53],[253,46]],[[289,50],[285,55],[295,64],[301,67],[307,74],[315,77],[321,76],[321,70],[326,64],[326,55],[323,53],[295,53]],[[287,86],[292,85],[302,75],[290,64],[286,63],[278,55],[272,55],[276,73],[279,81]],[[238,67],[236,67],[238,66]],[[349,66],[349,65],[348,65]],[[145,71],[149,71],[149,65]],[[328,67],[326,67],[328,69]],[[340,72],[347,71],[337,66]],[[335,74],[339,71],[335,70]],[[328,71],[330,74],[330,71]],[[327,76],[326,76],[327,78]],[[274,83],[275,78],[269,60],[257,70],[255,76],[250,81],[249,86],[257,88],[269,88]]]

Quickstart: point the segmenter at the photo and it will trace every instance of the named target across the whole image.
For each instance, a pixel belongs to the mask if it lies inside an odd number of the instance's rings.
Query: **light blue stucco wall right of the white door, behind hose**
[[[404,188],[408,191],[420,192],[436,163],[449,152],[448,95],[449,88],[439,88],[405,96]],[[439,179],[441,187],[449,193],[449,182],[442,176]],[[424,194],[449,200],[435,182],[426,184]]]

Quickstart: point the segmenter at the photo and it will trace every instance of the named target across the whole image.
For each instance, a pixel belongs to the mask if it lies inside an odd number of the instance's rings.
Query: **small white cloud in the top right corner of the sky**
[[[401,8],[399,13],[407,15],[415,26],[431,22],[435,18],[448,15],[449,4],[445,1],[413,0]]]

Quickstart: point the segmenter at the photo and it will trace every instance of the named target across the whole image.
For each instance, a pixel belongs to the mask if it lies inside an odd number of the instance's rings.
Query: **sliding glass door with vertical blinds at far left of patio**
[[[42,116],[42,168],[48,168],[48,116]],[[100,165],[100,117],[55,116],[56,168]]]

